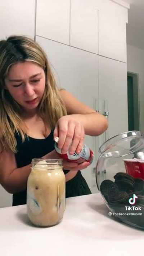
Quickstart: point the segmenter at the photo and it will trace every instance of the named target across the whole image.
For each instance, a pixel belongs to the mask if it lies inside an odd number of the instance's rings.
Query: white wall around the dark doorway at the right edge
[[[144,133],[144,50],[127,45],[127,72],[139,75],[140,130]]]

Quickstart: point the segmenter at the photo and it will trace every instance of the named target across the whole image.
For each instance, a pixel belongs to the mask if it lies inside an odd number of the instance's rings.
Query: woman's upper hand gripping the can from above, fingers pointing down
[[[68,150],[69,154],[75,151],[80,153],[85,137],[84,126],[71,115],[63,116],[59,118],[55,126],[54,137],[59,137],[58,148],[61,149],[62,154]]]

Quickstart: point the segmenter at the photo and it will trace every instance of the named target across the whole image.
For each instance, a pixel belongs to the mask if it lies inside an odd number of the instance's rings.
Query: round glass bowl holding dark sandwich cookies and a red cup
[[[144,138],[129,131],[99,149],[96,184],[109,215],[144,229]]]

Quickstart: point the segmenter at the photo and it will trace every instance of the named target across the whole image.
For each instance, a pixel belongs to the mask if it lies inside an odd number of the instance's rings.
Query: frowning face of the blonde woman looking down
[[[45,90],[44,70],[31,61],[14,64],[5,78],[5,89],[26,112],[35,111]]]

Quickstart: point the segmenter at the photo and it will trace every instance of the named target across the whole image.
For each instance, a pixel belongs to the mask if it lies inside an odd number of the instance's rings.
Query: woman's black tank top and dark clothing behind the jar
[[[16,134],[15,138],[18,151],[15,153],[15,160],[18,168],[29,165],[32,158],[41,158],[54,149],[53,130],[44,139],[34,139],[29,136],[22,143],[21,136]],[[68,170],[64,170],[64,174],[68,172]],[[27,190],[13,194],[13,206],[26,204],[26,194]],[[91,192],[81,172],[78,171],[76,176],[66,183],[66,197],[84,194],[91,194]]]

